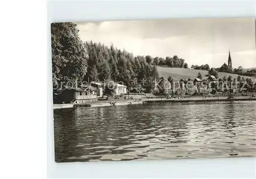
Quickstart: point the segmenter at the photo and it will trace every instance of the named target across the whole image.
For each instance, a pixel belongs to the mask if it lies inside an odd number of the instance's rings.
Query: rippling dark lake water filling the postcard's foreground
[[[54,110],[55,161],[256,156],[256,101]]]

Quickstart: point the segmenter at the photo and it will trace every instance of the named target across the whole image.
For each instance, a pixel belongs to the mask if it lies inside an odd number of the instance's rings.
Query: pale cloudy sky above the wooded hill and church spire
[[[83,41],[112,43],[118,49],[152,57],[177,55],[188,66],[256,67],[254,18],[163,19],[77,23]]]

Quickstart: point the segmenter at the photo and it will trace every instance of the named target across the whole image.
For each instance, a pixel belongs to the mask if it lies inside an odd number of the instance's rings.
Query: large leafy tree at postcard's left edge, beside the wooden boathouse
[[[56,89],[56,85],[81,81],[86,75],[89,56],[85,45],[78,36],[75,23],[51,24],[54,97],[62,92],[62,87]]]

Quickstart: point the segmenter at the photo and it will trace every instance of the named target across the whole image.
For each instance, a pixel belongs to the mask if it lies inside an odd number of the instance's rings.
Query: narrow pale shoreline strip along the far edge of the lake
[[[209,102],[209,101],[245,101],[256,100],[256,97],[249,96],[235,96],[232,99],[227,99],[227,96],[219,97],[187,97],[187,98],[141,98],[129,100],[101,100],[97,102],[88,102],[86,104],[54,104],[53,109],[64,109],[74,107],[105,107],[105,106],[121,106],[121,105],[137,105],[137,104],[151,104],[151,103],[189,103],[189,102]]]

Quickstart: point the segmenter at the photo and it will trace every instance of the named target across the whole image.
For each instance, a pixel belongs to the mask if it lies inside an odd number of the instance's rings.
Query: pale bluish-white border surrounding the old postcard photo
[[[255,17],[254,1],[51,1],[47,13],[48,177],[255,177],[255,158],[55,163],[50,46],[51,22]]]

